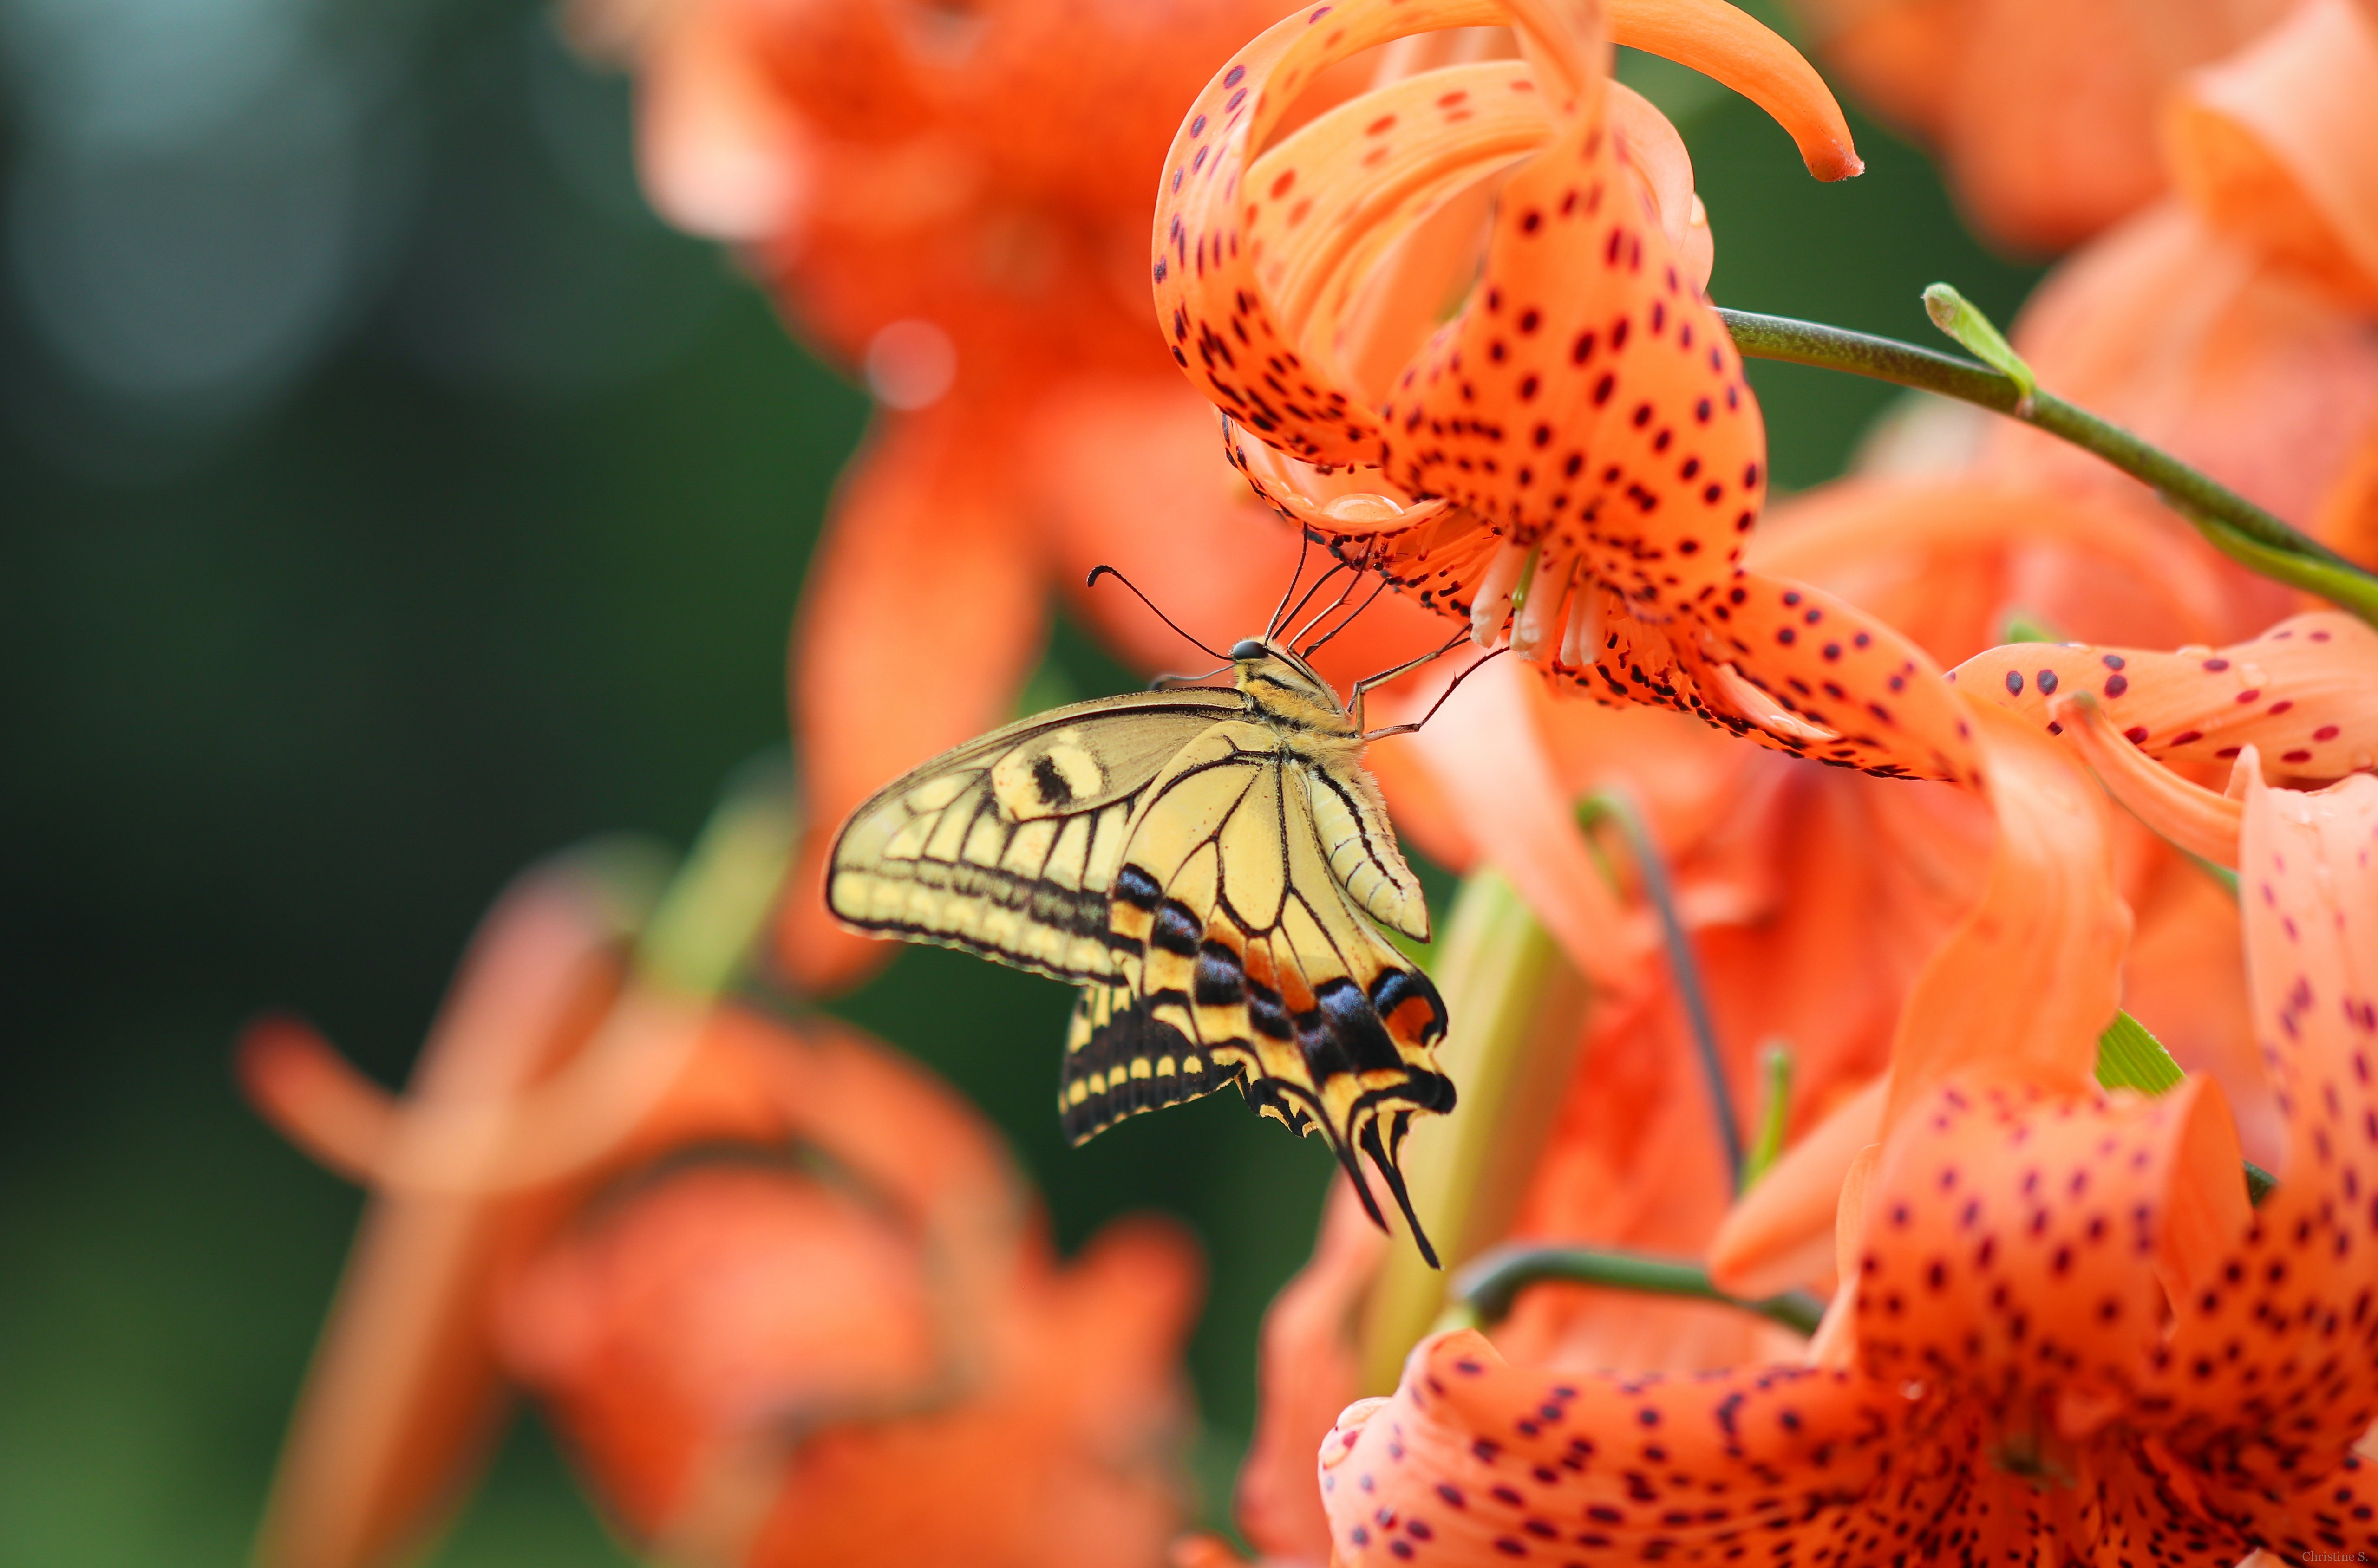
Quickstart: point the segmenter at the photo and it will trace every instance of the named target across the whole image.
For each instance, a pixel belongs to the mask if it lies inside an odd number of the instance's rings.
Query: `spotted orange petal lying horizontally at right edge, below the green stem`
[[[2378,763],[2378,630],[2342,611],[2295,615],[2226,649],[2012,644],[1950,677],[2050,732],[2050,703],[2088,691],[2152,758],[2228,763],[2257,746],[2278,779],[2335,779]]]

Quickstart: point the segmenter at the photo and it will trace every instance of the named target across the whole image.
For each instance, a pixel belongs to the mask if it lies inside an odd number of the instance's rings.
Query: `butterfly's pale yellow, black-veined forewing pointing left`
[[[946,751],[851,813],[825,900],[851,927],[1118,981],[1108,891],[1149,786],[1237,691],[1072,703]]]

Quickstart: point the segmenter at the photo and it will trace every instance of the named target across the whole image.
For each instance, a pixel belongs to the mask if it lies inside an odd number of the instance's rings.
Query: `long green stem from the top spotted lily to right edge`
[[[2378,577],[2335,554],[2319,539],[2300,535],[2238,492],[2216,485],[2169,451],[2150,447],[2121,425],[2097,418],[2052,392],[2024,385],[1955,354],[1936,354],[1912,342],[1850,333],[1817,321],[1757,316],[1753,311],[1717,311],[1734,344],[1750,359],[1781,359],[1798,366],[1848,371],[1888,380],[1919,392],[1955,397],[2026,425],[2045,430],[2114,468],[2150,485],[2173,511],[2188,518],[2216,549],[2257,573],[2307,589],[2345,606],[2378,625]]]

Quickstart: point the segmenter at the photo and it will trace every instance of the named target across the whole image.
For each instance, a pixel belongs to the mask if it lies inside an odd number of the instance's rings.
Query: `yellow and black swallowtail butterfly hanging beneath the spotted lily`
[[[1348,708],[1248,639],[1229,689],[1056,708],[887,784],[835,843],[844,922],[1082,986],[1058,1114],[1080,1143],[1237,1083],[1410,1219],[1396,1157],[1453,1109],[1443,1000],[1377,929],[1429,938]],[[1420,1226],[1413,1226],[1427,1254]],[[1434,1257],[1432,1257],[1434,1262]]]

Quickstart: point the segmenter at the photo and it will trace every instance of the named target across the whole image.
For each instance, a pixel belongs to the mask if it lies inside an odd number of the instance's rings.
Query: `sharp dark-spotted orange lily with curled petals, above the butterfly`
[[[1505,17],[1527,62],[1424,71],[1265,147],[1334,59]],[[1824,83],[1741,12],[1662,0],[1615,5],[1610,24],[1743,86],[1817,173],[1857,171]],[[1275,508],[1479,641],[1508,634],[1598,701],[1871,772],[1969,777],[1921,649],[1738,568],[1764,501],[1757,402],[1679,261],[1674,164],[1605,67],[1598,7],[1355,0],[1263,33],[1168,154],[1151,276],[1172,356]],[[1470,302],[1389,385],[1360,385],[1351,333],[1382,254],[1503,166]]]

